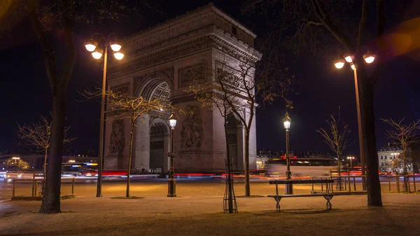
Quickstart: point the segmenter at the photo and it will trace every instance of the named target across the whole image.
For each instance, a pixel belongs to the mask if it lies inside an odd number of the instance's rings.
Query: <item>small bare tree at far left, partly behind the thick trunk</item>
[[[35,146],[36,148],[41,149],[44,154],[43,162],[43,176],[44,179],[47,176],[47,157],[48,157],[48,148],[50,147],[50,138],[51,138],[51,125],[52,123],[45,117],[41,116],[38,122],[32,121],[29,124],[24,123],[20,125],[18,123],[18,130],[15,130],[18,139],[22,144],[28,146]],[[64,130],[64,141],[63,144],[70,143],[74,139],[67,138],[67,132],[70,127],[66,127]],[[45,181],[43,181],[43,188],[45,189]]]

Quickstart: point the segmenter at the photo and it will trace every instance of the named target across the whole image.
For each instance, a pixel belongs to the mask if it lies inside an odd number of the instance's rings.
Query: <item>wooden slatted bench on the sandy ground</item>
[[[312,192],[311,194],[297,194],[297,195],[293,195],[293,194],[285,194],[285,195],[279,195],[279,184],[307,184],[307,183],[311,183],[312,184]],[[313,184],[314,183],[321,183],[321,186],[323,186],[325,184],[325,193],[316,193],[314,192],[314,187]],[[334,195],[336,195],[335,193],[330,193],[330,183],[334,183],[333,179],[276,179],[276,180],[271,180],[269,181],[269,184],[275,184],[276,185],[276,195],[268,195],[267,197],[273,197],[274,200],[276,200],[276,210],[280,211],[280,201],[281,198],[283,197],[324,197],[325,200],[327,200],[326,206],[327,206],[327,210],[332,209],[332,204],[331,204],[331,199]],[[352,193],[356,193],[356,192],[352,192]]]

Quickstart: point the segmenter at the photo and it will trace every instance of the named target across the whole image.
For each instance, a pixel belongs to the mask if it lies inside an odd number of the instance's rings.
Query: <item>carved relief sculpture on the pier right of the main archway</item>
[[[181,130],[182,148],[200,148],[202,144],[202,118],[198,106],[188,106]]]

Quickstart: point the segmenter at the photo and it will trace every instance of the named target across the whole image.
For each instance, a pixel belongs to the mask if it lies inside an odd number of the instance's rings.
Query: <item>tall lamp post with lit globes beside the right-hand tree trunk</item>
[[[370,64],[374,61],[374,55],[372,53],[367,52],[363,55],[363,59],[367,64]],[[360,115],[360,100],[358,95],[358,81],[357,81],[357,68],[356,65],[353,64],[353,57],[351,55],[345,55],[344,60],[339,59],[335,62],[335,67],[337,69],[342,69],[344,67],[345,62],[350,64],[351,69],[353,69],[354,75],[354,87],[356,89],[356,109],[357,109],[357,123],[358,123],[358,139],[359,139],[359,149],[360,149],[360,164],[362,165],[362,174],[365,174],[365,155],[364,155],[364,148],[363,148],[363,133],[362,133],[362,118]],[[363,181],[363,190],[365,190],[365,181]]]

